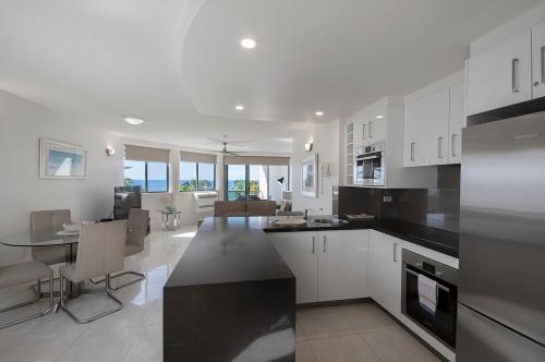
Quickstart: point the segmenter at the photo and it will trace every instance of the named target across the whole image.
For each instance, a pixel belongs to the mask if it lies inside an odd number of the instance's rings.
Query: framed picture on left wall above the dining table
[[[39,140],[41,179],[85,179],[87,149],[49,140]]]

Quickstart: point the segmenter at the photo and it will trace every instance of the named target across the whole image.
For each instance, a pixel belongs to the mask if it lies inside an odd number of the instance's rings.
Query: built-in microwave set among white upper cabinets
[[[386,142],[355,148],[354,183],[364,186],[384,186]]]

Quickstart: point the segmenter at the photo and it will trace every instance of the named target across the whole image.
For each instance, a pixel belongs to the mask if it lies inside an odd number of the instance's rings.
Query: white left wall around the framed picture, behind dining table
[[[87,179],[39,179],[41,137],[85,147]],[[113,157],[107,146],[118,150]],[[123,182],[122,162],[122,143],[112,134],[0,90],[0,236],[27,230],[31,210],[70,208],[74,220],[108,217],[113,186]],[[11,255],[21,252],[14,249],[0,249],[0,265],[14,262]]]

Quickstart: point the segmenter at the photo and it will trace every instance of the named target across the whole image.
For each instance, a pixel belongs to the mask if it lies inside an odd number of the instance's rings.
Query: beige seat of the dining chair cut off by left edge
[[[53,270],[40,262],[27,262],[0,267],[0,288],[19,286],[53,277]]]

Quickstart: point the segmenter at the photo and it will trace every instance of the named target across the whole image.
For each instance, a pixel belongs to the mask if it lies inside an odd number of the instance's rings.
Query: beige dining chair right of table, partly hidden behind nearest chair
[[[144,251],[144,242],[146,240],[146,231],[149,225],[149,210],[141,208],[131,208],[129,210],[128,233],[125,243],[125,257],[142,253]],[[129,282],[122,283],[119,287],[110,287],[111,290],[119,290],[137,281],[146,278],[143,273],[138,272],[123,272],[111,276],[110,279],[121,277],[123,275],[134,275],[137,278]]]

